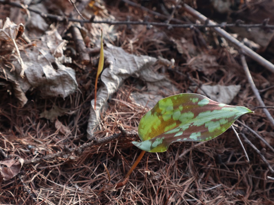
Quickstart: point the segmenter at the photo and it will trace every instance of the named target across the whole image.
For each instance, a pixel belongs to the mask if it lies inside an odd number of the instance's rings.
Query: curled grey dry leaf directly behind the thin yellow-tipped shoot
[[[109,64],[101,74],[102,87],[97,93],[96,111],[94,99],[91,101],[90,118],[88,122],[88,138],[93,137],[93,130],[100,121],[100,110],[105,106],[109,97],[117,91],[123,80],[137,74],[156,62],[156,58],[149,56],[135,56],[126,53],[122,48],[107,43],[104,50],[105,63]]]

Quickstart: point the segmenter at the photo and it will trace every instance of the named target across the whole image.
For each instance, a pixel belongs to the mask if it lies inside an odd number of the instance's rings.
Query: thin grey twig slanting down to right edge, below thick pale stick
[[[244,72],[246,74],[246,76],[248,77],[248,82],[249,84],[251,85],[251,88],[253,90],[253,93],[255,94],[255,96],[257,97],[257,100],[259,101],[259,104],[262,106],[262,107],[265,107],[265,103],[264,101],[262,100],[261,96],[260,96],[260,93],[258,91],[258,89],[256,88],[256,85],[255,83],[253,82],[252,80],[252,77],[251,77],[251,74],[248,70],[248,65],[246,63],[246,60],[245,60],[245,57],[243,54],[241,54],[241,61],[242,61],[242,65],[243,65],[243,68],[244,68]],[[274,127],[274,119],[273,117],[271,116],[271,114],[269,113],[269,111],[266,109],[266,108],[263,108],[263,111],[266,115],[266,117],[269,119],[269,121],[271,122],[272,126]]]

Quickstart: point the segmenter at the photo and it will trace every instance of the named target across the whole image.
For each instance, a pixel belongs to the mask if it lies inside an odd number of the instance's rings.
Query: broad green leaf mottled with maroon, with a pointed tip
[[[200,94],[182,93],[161,99],[140,120],[142,142],[132,142],[147,152],[165,152],[173,142],[207,141],[225,132],[245,113],[245,107],[222,104]]]

